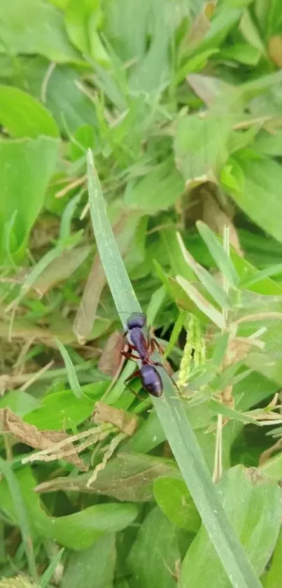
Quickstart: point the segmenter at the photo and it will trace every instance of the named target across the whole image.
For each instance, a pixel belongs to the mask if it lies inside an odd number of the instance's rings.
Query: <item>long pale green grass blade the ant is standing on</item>
[[[101,185],[90,150],[87,154],[87,174],[92,224],[104,271],[118,311],[130,314],[130,312],[138,311],[140,306],[108,222]],[[121,314],[120,318],[125,323],[126,315]],[[163,370],[162,380],[164,394],[159,399],[153,398],[153,404],[183,479],[223,563],[227,577],[234,588],[261,588],[258,577],[227,520],[220,497],[185,413],[184,403],[176,398],[174,385],[169,375]]]

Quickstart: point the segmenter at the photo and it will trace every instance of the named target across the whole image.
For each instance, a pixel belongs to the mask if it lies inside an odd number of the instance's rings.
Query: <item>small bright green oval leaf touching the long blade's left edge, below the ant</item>
[[[154,483],[157,505],[171,523],[190,533],[197,533],[201,519],[183,480],[158,479]]]

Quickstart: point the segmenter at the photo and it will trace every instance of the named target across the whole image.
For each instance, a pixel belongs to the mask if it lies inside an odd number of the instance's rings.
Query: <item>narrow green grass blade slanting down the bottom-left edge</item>
[[[10,490],[10,495],[13,500],[15,513],[17,515],[17,522],[20,526],[20,532],[22,533],[24,551],[27,555],[29,573],[31,577],[33,577],[34,580],[36,580],[37,572],[36,563],[34,559],[34,550],[32,547],[31,533],[29,530],[29,521],[27,518],[27,511],[24,507],[24,501],[20,490],[20,484],[18,483],[17,478],[15,477],[15,474],[10,464],[3,460],[2,457],[0,457],[0,472],[2,472],[3,476],[5,476],[6,478]]]

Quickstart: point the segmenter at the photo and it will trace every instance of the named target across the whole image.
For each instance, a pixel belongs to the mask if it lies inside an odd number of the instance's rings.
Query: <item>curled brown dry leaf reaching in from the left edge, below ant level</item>
[[[34,449],[49,449],[56,446],[59,441],[69,439],[70,441],[67,446],[68,455],[64,456],[64,453],[62,453],[59,457],[76,465],[83,472],[87,472],[88,468],[78,456],[76,446],[71,443],[70,435],[52,430],[41,431],[37,427],[34,427],[34,425],[29,425],[29,423],[24,422],[10,408],[0,409],[0,427],[2,431],[12,433],[21,443],[29,445]],[[71,455],[69,455],[70,447],[73,450]],[[54,459],[57,459],[56,455]]]

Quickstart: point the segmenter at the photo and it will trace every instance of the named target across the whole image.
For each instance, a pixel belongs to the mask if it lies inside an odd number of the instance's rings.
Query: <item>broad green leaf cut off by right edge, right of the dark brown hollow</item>
[[[244,174],[244,184],[230,196],[248,217],[265,232],[282,242],[280,216],[282,215],[282,167],[267,157],[235,159]]]

